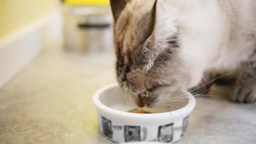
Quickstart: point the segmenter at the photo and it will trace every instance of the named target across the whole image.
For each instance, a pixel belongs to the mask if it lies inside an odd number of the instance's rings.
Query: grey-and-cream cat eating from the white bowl
[[[110,2],[117,81],[139,107],[203,88],[220,68],[236,72],[232,101],[256,101],[255,0]]]

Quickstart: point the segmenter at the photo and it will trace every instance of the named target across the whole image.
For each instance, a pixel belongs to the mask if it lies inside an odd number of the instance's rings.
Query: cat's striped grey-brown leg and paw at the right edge
[[[256,101],[256,59],[243,62],[237,69],[237,80],[231,99],[238,103]]]

